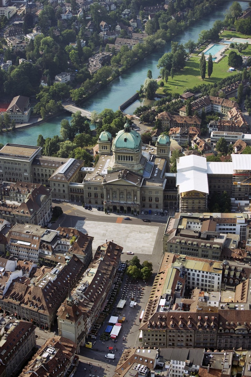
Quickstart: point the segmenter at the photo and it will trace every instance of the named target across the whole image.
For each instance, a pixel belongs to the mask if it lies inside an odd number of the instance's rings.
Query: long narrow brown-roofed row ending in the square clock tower
[[[59,335],[85,344],[113,285],[123,248],[109,241],[99,246],[93,262],[58,310]]]

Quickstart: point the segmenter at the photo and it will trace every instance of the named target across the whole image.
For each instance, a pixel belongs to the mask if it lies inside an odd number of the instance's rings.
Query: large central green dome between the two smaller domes
[[[114,149],[138,149],[141,142],[140,134],[137,131],[130,130],[129,124],[126,122],[124,129],[117,133],[113,142]]]

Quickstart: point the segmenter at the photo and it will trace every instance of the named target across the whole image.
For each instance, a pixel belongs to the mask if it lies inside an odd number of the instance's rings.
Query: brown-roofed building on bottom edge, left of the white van
[[[79,365],[79,357],[76,355],[76,344],[67,338],[54,336],[32,357],[24,367],[20,377],[32,375],[44,375],[45,371],[53,377],[61,377],[75,374]]]

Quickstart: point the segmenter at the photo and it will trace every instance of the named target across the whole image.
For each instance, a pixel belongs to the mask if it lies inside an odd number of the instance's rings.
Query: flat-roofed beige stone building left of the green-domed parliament
[[[84,161],[74,158],[41,156],[41,147],[6,144],[0,150],[0,176],[3,181],[32,182],[50,186],[52,199],[69,201],[70,192],[84,201]]]

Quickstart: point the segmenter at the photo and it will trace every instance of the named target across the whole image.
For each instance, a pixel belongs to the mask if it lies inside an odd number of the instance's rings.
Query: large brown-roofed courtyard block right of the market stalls
[[[186,257],[186,260],[189,260],[189,258]],[[155,277],[144,316],[140,323],[142,345],[149,348],[186,347],[215,350],[242,347],[242,349],[250,349],[251,337],[249,334],[251,333],[251,325],[248,320],[250,300],[247,294],[250,286],[249,279],[246,287],[240,289],[240,293],[239,290],[237,290],[236,296],[233,293],[234,304],[225,301],[220,303],[220,309],[214,306],[208,307],[207,303],[200,300],[199,293],[202,293],[202,291],[195,289],[191,298],[187,299],[187,305],[190,305],[190,310],[183,311],[180,309],[184,304],[184,300],[182,302],[180,296],[176,299],[175,291],[173,291],[172,303],[167,303],[167,306],[172,310],[167,308],[166,311],[163,311],[164,301],[166,302],[166,284],[170,285],[168,270],[176,265],[176,268],[180,268],[180,275],[183,274],[184,279],[187,278],[187,271],[182,270],[181,262],[184,261],[181,261],[180,256],[177,259],[176,256],[170,256],[168,253],[163,256],[159,273]],[[219,262],[213,261],[212,263],[219,264]],[[218,277],[220,278],[219,286],[221,284],[221,276],[218,276],[219,274],[221,275],[221,269],[222,267],[214,275],[214,280],[217,282],[216,286],[218,286]],[[209,271],[204,271],[204,276],[205,272]],[[195,273],[194,269],[193,273]],[[199,270],[199,274],[202,275],[202,273]],[[196,279],[196,276],[194,278]],[[199,279],[201,279],[201,276]],[[175,280],[173,280],[174,283]],[[195,287],[197,282],[194,280],[193,284]],[[205,290],[207,290],[207,287]],[[244,293],[244,296],[242,293]],[[229,293],[227,292],[228,295]],[[238,303],[242,296],[243,303]]]

